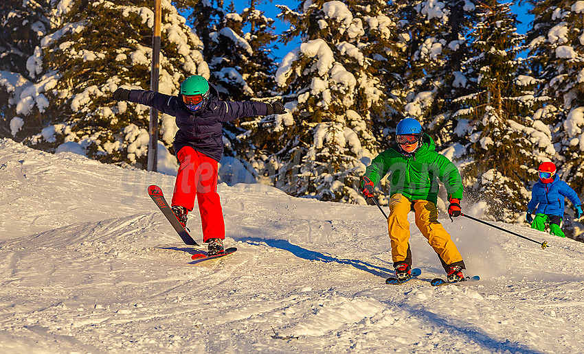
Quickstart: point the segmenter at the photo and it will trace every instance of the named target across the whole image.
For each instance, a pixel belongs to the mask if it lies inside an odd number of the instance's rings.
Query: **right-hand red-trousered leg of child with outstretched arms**
[[[218,163],[201,152],[196,152],[196,154],[201,161],[195,172],[195,180],[196,199],[199,202],[203,228],[203,242],[207,242],[209,239],[225,239],[223,209],[217,193]]]

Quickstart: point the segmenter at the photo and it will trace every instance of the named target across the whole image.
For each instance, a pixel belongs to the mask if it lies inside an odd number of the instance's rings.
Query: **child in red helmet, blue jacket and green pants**
[[[537,170],[539,180],[531,190],[531,200],[527,204],[525,220],[531,224],[531,228],[546,231],[546,226],[549,225],[551,235],[565,237],[560,228],[564,213],[564,199],[565,197],[570,199],[576,211],[576,219],[579,219],[582,216],[580,198],[568,183],[560,180],[554,163],[541,163]],[[536,214],[535,218],[531,216],[533,211]]]

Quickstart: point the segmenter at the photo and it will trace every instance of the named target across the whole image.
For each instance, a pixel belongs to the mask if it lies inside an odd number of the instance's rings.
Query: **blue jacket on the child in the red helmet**
[[[542,183],[541,180],[533,185],[531,200],[527,204],[527,210],[546,215],[558,215],[563,217],[564,198],[568,197],[574,205],[581,205],[580,198],[568,183],[554,176],[551,183]],[[537,209],[535,209],[537,207]]]

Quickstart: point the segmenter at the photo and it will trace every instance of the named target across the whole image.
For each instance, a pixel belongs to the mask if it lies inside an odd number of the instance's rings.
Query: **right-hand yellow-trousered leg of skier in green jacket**
[[[426,237],[428,244],[438,254],[442,268],[447,272],[451,266],[460,266],[461,269],[466,269],[464,261],[462,261],[462,255],[458,252],[458,248],[450,238],[450,234],[438,222],[436,205],[427,200],[416,200],[414,211],[416,212],[416,226],[418,226],[422,235]]]

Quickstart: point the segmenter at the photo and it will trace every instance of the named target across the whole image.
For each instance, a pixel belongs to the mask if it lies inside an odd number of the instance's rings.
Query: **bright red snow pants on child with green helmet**
[[[225,239],[223,210],[217,193],[217,161],[190,146],[181,148],[177,156],[181,166],[172,194],[172,206],[179,205],[192,211],[196,198],[201,213],[203,242]]]

